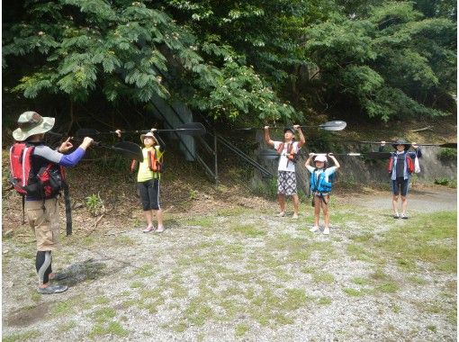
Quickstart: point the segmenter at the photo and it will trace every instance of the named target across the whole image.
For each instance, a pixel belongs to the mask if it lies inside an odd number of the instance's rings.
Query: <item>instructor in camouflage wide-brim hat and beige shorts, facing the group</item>
[[[31,151],[30,154],[30,181],[27,184],[41,184],[38,178],[39,172],[49,168],[49,175],[53,173],[60,180],[63,175],[60,166],[76,166],[78,161],[85,155],[93,139],[86,137],[82,144],[70,154],[64,154],[73,148],[70,138],[64,141],[57,150],[49,148],[43,142],[45,133],[54,126],[55,119],[43,117],[38,112],[23,112],[19,117],[18,128],[13,131],[16,140],[10,149],[12,160],[14,157],[23,158],[23,151]],[[27,149],[26,149],[27,148]],[[20,161],[24,165],[24,160]],[[12,167],[17,163],[12,162]],[[12,175],[14,175],[12,170]],[[12,183],[17,185],[17,179]],[[62,293],[67,291],[67,286],[49,284],[50,280],[58,281],[66,275],[53,273],[51,268],[51,252],[58,247],[59,221],[58,221],[58,193],[44,192],[44,186],[25,187],[24,213],[29,225],[37,239],[37,255],[35,266],[39,278],[38,292],[42,294]]]

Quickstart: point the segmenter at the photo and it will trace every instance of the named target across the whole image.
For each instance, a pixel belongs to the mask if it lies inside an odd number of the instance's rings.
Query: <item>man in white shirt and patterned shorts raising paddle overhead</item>
[[[295,130],[298,130],[300,141],[294,141]],[[277,201],[281,211],[277,216],[285,216],[285,195],[293,197],[293,219],[298,218],[299,199],[296,191],[296,158],[295,155],[305,144],[306,140],[299,125],[284,130],[284,142],[274,141],[269,137],[269,126],[265,126],[266,144],[275,148],[279,157],[277,167]]]

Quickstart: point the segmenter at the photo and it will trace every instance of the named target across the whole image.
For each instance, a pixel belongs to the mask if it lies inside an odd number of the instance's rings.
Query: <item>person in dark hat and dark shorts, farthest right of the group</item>
[[[386,142],[381,141],[379,151],[383,152]],[[414,148],[409,152],[410,147]],[[408,219],[407,216],[407,194],[410,184],[410,177],[414,171],[414,158],[422,157],[422,152],[416,142],[409,144],[405,140],[398,139],[392,144],[395,152],[391,152],[388,172],[391,176],[392,185],[392,210],[394,219]],[[399,214],[399,196],[401,197],[401,215]]]

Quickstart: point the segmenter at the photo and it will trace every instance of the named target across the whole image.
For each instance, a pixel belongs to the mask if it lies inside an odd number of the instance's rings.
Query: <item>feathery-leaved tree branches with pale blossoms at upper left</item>
[[[202,53],[196,38],[152,2],[26,1],[4,23],[3,66],[21,69],[14,91],[47,92],[85,102],[95,90],[111,102],[147,103],[154,94],[181,98],[209,115],[260,118],[298,115],[231,49],[221,63]]]

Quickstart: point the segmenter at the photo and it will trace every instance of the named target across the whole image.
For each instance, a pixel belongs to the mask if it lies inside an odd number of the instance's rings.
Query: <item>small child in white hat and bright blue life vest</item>
[[[314,166],[311,166],[311,159],[314,157]],[[324,154],[315,154],[310,153],[310,157],[304,163],[304,166],[311,173],[311,193],[312,193],[312,204],[314,206],[314,226],[310,229],[311,232],[316,232],[319,230],[319,220],[320,220],[320,208],[322,208],[325,227],[323,233],[328,235],[330,233],[329,229],[329,200],[331,192],[331,182],[330,177],[334,175],[338,168],[338,160],[333,154],[329,153],[329,157],[335,163],[335,166],[328,167],[327,156]]]

